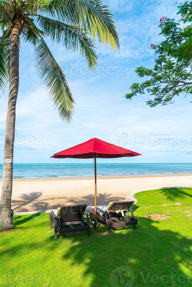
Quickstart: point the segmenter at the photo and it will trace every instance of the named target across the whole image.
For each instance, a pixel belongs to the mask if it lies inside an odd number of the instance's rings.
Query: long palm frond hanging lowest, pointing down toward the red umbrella
[[[60,118],[69,123],[72,120],[75,102],[62,69],[55,61],[43,39],[36,40],[35,60],[38,75],[48,89]]]

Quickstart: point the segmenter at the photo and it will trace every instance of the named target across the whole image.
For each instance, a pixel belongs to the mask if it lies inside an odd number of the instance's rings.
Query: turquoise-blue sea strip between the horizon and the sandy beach
[[[97,177],[192,174],[192,163],[97,163]],[[3,164],[0,164],[0,180]],[[14,164],[14,180],[94,177],[93,163]]]

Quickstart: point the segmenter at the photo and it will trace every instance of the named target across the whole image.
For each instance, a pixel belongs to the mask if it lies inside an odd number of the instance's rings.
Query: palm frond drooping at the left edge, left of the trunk
[[[10,41],[0,37],[0,95],[4,94],[9,77],[9,59],[11,54]]]

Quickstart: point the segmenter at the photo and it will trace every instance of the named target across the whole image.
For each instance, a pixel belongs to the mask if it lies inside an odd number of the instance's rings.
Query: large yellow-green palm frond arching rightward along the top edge
[[[113,13],[108,10],[101,0],[38,0],[43,1],[39,7],[43,15],[49,16],[67,24],[80,27],[87,37],[100,43],[119,49],[117,26]],[[47,4],[46,4],[47,3]]]

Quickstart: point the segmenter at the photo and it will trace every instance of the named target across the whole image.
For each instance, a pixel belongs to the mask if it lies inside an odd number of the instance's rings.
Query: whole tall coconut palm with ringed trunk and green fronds
[[[0,92],[9,83],[6,116],[3,181],[0,201],[0,230],[13,228],[11,194],[15,109],[19,86],[19,47],[34,47],[36,69],[48,89],[62,121],[70,122],[74,100],[65,75],[45,39],[62,42],[70,51],[80,50],[90,69],[97,64],[95,41],[119,49],[113,14],[101,0],[0,0]],[[7,159],[11,159],[8,162]]]

